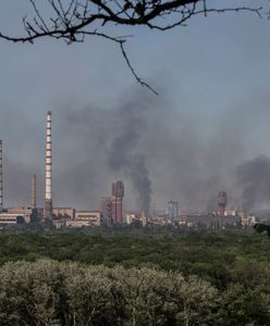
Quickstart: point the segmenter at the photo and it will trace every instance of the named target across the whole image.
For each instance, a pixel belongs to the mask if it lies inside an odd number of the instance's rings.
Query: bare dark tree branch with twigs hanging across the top
[[[243,3],[245,0],[236,1]],[[29,2],[34,10],[34,17],[32,21],[23,18],[26,35],[10,36],[0,32],[0,39],[33,43],[38,38],[52,37],[70,45],[84,41],[86,36],[103,37],[120,46],[121,53],[135,79],[155,93],[157,92],[139,78],[133,68],[124,48],[126,38],[108,36],[103,32],[105,25],[140,25],[150,29],[168,30],[176,26],[185,26],[187,21],[196,15],[250,12],[261,17],[262,11],[261,7],[222,8],[220,3],[218,8],[208,8],[208,0],[47,0],[53,16],[45,18],[36,1],[29,0]]]

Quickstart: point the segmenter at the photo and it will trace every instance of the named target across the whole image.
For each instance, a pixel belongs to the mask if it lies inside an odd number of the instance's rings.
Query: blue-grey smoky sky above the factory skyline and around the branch
[[[25,14],[28,1],[1,1],[0,30],[23,33]],[[97,210],[122,179],[131,210],[165,210],[169,200],[212,209],[218,191],[235,209],[270,208],[270,22],[226,13],[167,33],[110,33],[134,35],[130,60],[158,97],[110,41],[0,40],[4,204],[29,205],[33,173],[44,204],[51,110],[54,206]]]

